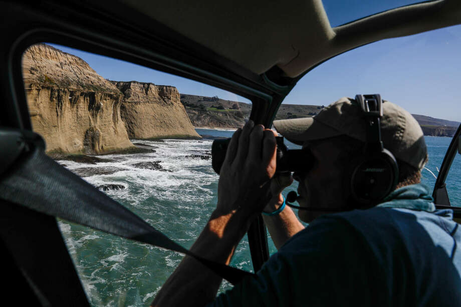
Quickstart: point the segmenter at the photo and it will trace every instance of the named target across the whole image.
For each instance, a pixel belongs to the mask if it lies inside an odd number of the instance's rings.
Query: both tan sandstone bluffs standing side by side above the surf
[[[110,82],[82,59],[45,44],[23,56],[34,131],[48,153],[130,152],[130,138],[200,138],[175,87]]]

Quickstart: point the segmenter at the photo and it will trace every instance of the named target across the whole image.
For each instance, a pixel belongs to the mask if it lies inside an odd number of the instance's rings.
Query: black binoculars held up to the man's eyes
[[[291,149],[283,142],[283,136],[277,136],[277,168],[276,173],[283,172],[307,172],[314,164],[314,157],[309,149]],[[211,165],[219,174],[224,162],[230,138],[214,140],[211,146]]]

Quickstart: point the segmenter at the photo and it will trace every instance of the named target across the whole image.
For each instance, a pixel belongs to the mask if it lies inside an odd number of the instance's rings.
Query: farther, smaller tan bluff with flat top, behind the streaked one
[[[131,139],[200,138],[175,87],[111,81],[124,95],[121,118]]]

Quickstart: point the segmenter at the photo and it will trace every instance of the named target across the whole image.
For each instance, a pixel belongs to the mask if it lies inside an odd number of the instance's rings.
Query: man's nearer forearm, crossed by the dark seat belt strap
[[[213,212],[190,250],[203,258],[228,264],[246,229],[248,216],[245,213],[221,215]],[[221,280],[201,262],[185,256],[152,306],[203,306],[214,299]]]

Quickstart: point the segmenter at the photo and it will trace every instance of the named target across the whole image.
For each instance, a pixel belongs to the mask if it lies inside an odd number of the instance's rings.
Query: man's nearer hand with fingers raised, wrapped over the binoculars
[[[271,197],[270,179],[276,169],[276,140],[272,130],[248,121],[234,133],[218,184],[216,211],[260,213]]]

